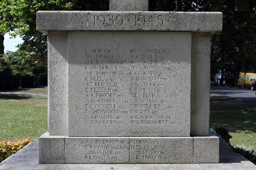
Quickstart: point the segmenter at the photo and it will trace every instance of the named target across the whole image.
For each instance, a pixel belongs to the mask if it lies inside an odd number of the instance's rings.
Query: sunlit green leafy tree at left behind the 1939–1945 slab
[[[47,37],[36,30],[37,11],[108,10],[108,2],[107,0],[97,2],[93,0],[2,0],[0,2],[0,34],[12,31],[13,37],[16,35],[22,37],[24,40],[22,46],[33,48],[36,55],[42,55],[47,48]]]

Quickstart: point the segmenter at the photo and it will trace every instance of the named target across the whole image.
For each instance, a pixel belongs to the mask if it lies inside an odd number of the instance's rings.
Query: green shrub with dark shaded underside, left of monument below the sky
[[[42,62],[32,61],[34,52],[17,51],[0,56],[0,90],[11,90],[18,86],[34,87],[37,77],[44,72]]]

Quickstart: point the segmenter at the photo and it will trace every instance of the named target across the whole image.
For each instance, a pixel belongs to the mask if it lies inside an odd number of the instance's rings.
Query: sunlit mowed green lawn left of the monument
[[[0,140],[38,138],[47,131],[47,99],[0,96]]]

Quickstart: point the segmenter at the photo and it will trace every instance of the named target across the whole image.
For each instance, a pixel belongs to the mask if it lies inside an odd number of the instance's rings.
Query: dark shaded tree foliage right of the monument
[[[223,12],[223,31],[212,38],[211,74],[256,71],[256,2],[207,0],[202,10]]]

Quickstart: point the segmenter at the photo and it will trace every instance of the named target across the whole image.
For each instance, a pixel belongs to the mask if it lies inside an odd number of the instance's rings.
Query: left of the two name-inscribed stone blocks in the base
[[[66,163],[129,163],[129,138],[67,137]]]

